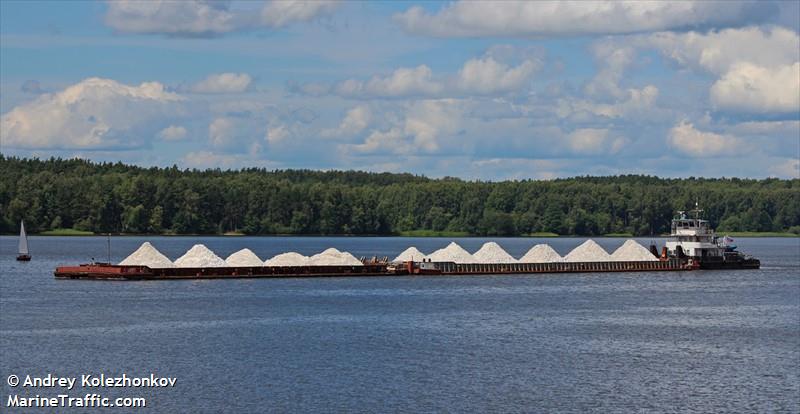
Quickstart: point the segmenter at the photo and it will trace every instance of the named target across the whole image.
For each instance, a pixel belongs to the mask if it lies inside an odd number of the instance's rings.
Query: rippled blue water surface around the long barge
[[[121,237],[112,261],[144,240],[171,259],[198,242],[266,259],[450,241]],[[584,241],[457,239],[470,251],[487,240],[517,257]],[[800,412],[798,239],[737,240],[760,270],[151,282],[53,278],[104,259],[102,237],[31,237],[30,263],[14,260],[16,242],[0,238],[2,378],[178,378],[102,392],[146,396],[137,412]]]

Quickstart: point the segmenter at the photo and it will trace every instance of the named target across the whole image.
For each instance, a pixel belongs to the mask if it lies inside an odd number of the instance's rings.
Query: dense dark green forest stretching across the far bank
[[[718,231],[800,233],[800,179],[502,182],[360,171],[188,170],[0,154],[0,232],[653,235],[699,203]],[[417,232],[417,233],[414,233]],[[428,233],[425,233],[428,232]]]

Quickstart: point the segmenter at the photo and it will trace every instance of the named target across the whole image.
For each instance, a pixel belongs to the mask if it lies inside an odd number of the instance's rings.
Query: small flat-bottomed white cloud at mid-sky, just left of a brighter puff
[[[399,68],[389,76],[373,76],[361,82],[348,79],[336,87],[336,92],[348,97],[402,97],[428,96],[442,91],[443,86],[432,79],[431,69],[425,65],[416,68]]]

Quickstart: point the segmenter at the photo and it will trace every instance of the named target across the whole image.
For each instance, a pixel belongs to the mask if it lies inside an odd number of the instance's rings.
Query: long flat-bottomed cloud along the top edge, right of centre
[[[750,1],[457,1],[435,14],[414,6],[394,16],[414,34],[439,37],[576,36],[739,25],[778,13]]]

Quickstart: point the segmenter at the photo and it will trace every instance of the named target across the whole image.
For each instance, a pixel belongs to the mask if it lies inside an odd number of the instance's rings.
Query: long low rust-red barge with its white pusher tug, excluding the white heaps
[[[758,259],[736,251],[730,240],[714,234],[707,220],[700,219],[702,210],[695,208],[694,218],[685,212],[672,220],[670,236],[661,252],[655,245],[650,250],[658,260],[548,263],[454,263],[406,261],[390,263],[388,259],[362,260],[361,266],[253,266],[253,267],[177,267],[150,268],[109,263],[91,263],[56,268],[54,275],[63,279],[97,280],[169,280],[169,279],[234,279],[282,277],[355,277],[405,275],[505,275],[540,273],[606,273],[691,271],[699,269],[758,269]]]

